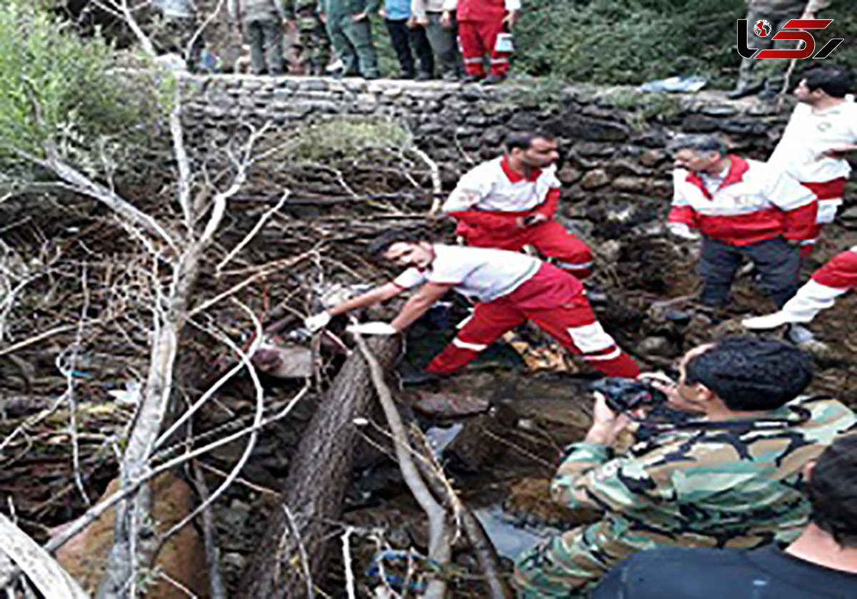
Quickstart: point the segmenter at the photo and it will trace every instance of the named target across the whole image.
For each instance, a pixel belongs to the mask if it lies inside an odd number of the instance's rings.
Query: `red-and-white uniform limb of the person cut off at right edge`
[[[857,288],[857,246],[836,254],[812,274],[780,312],[789,323],[808,323],[822,310],[830,308],[837,297]]]

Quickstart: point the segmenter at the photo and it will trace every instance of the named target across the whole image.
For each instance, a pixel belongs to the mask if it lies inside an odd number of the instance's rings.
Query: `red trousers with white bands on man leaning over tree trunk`
[[[450,373],[476,358],[492,341],[518,324],[531,320],[578,353],[608,377],[637,377],[639,366],[608,335],[573,276],[552,264],[542,268],[511,294],[476,304],[455,339],[426,367],[429,372]]]

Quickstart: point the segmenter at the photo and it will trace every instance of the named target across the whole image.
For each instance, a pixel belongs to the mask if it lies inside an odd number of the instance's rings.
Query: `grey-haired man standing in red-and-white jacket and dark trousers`
[[[725,308],[748,259],[782,307],[800,287],[800,243],[812,239],[815,194],[764,163],[727,154],[715,137],[687,136],[671,148],[677,168],[668,226],[680,237],[702,236],[699,301]]]

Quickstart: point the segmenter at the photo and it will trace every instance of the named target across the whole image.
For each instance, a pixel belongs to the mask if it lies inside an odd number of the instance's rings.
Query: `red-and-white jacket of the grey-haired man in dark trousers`
[[[676,234],[697,229],[731,246],[783,237],[815,237],[818,201],[812,191],[765,163],[729,157],[728,174],[710,193],[693,171],[676,169],[669,227]]]

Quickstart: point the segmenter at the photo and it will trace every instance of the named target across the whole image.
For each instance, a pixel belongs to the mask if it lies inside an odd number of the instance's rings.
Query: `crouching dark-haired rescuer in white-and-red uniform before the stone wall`
[[[519,252],[534,246],[578,278],[590,275],[592,254],[554,213],[560,204],[556,140],[541,133],[510,133],[506,154],[479,164],[458,181],[442,210],[458,221],[468,246]]]

